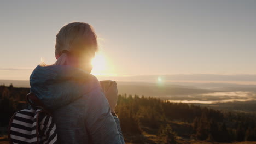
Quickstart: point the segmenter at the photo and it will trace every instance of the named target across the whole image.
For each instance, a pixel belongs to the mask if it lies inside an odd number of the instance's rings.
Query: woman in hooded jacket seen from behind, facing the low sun
[[[104,94],[90,74],[97,50],[92,26],[69,23],[56,35],[57,61],[38,65],[30,76],[31,92],[53,112],[59,143],[124,143],[115,115],[117,83]]]

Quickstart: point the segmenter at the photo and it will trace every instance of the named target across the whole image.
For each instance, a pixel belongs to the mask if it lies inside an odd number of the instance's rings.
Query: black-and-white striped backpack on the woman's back
[[[14,113],[8,127],[10,143],[57,143],[56,124],[49,110],[30,92],[27,101],[31,109]]]

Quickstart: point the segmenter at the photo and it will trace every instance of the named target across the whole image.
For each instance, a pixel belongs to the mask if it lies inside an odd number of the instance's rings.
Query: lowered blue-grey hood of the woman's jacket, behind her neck
[[[100,87],[100,83],[94,75],[70,65],[38,65],[30,76],[30,86],[46,109],[53,110]]]

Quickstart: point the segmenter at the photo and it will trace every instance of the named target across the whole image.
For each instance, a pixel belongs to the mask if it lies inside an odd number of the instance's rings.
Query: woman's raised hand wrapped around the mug
[[[117,82],[112,82],[112,85],[108,88],[108,91],[105,92],[105,96],[110,105],[111,112],[115,113],[115,106],[117,106],[118,101]]]

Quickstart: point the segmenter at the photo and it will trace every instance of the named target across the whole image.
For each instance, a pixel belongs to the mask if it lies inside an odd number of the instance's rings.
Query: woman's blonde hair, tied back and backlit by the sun
[[[56,35],[53,65],[69,65],[68,55],[83,57],[89,62],[98,51],[97,35],[94,28],[85,22],[72,22],[63,26]],[[41,65],[46,65],[44,62]]]

